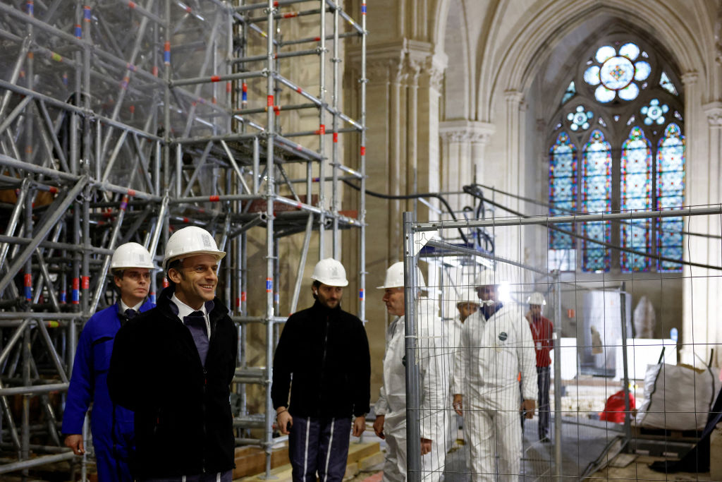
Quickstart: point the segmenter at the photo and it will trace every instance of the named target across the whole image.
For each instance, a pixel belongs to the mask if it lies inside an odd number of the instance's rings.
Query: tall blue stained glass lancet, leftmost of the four
[[[574,212],[577,197],[577,148],[569,141],[566,132],[557,137],[549,150],[549,210],[550,214]],[[571,224],[560,228],[573,231]],[[549,249],[573,249],[574,238],[559,231],[549,230]]]

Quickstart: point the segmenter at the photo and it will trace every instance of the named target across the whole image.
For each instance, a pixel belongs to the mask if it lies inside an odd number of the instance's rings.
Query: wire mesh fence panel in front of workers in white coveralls
[[[671,216],[715,225],[720,208],[570,220]],[[710,480],[715,323],[698,317],[690,330],[686,317],[720,267],[687,249],[679,272],[560,271],[546,240],[564,221],[406,215],[409,480]],[[497,253],[443,241],[458,228],[491,231]],[[707,238],[718,257],[722,237]]]

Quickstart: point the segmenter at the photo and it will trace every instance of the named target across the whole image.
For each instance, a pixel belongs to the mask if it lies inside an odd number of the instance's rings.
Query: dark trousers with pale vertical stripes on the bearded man
[[[341,482],[349,457],[351,418],[293,416],[288,457],[294,482]]]

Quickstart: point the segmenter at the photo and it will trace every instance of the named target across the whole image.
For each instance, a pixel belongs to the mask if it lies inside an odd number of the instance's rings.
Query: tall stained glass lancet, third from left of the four
[[[640,127],[633,127],[622,144],[620,206],[622,210],[648,210],[652,207],[652,150]],[[621,223],[622,246],[647,252],[650,248],[651,222],[648,219]],[[622,251],[622,271],[647,271],[650,259]]]

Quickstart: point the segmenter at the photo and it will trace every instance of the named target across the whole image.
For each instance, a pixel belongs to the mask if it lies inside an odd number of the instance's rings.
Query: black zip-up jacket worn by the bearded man
[[[361,320],[316,301],[286,322],[274,355],[271,398],[274,408],[288,407],[291,415],[362,416],[369,410],[370,375]]]

